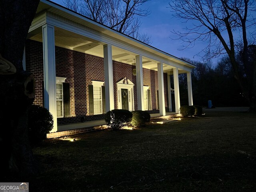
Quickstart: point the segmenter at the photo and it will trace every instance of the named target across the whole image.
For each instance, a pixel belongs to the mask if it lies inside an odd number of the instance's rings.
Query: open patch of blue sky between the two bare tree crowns
[[[168,2],[168,0],[151,0],[145,4],[145,8],[148,8],[151,14],[141,18],[140,32],[151,36],[151,45],[164,52],[179,58],[186,57],[192,60],[200,60],[200,57],[195,56],[198,53],[198,48],[179,51],[178,49],[182,48],[182,42],[171,39],[176,38],[171,30],[182,30],[182,25],[181,20],[172,18]],[[200,44],[202,43],[198,42],[197,46],[200,46]]]

